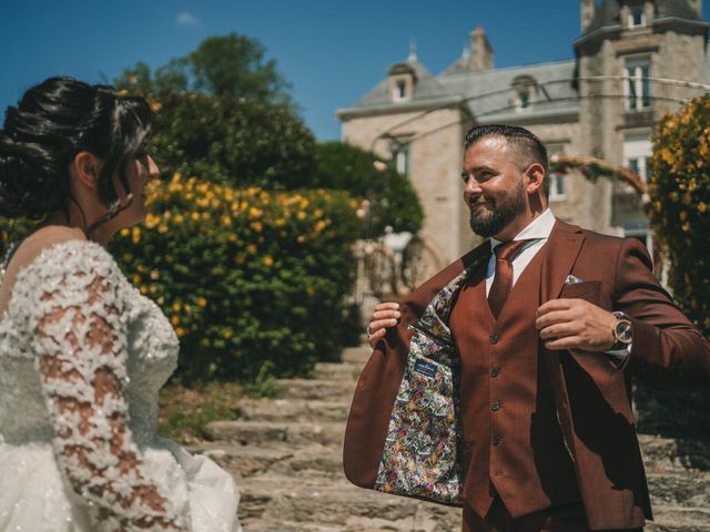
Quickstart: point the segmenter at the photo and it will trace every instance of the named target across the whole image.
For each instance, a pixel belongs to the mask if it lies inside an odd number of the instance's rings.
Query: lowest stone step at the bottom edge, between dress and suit
[[[460,530],[460,509],[362,490],[345,481],[264,475],[243,479],[240,490],[240,519],[250,531],[251,521],[264,520],[314,523],[339,531]]]

